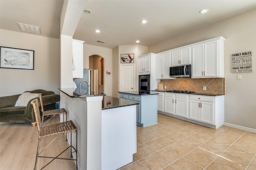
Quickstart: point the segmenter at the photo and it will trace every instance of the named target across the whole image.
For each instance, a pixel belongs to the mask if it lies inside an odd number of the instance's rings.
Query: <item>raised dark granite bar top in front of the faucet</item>
[[[96,93],[94,91],[79,91],[79,88],[58,88],[60,91],[68,95],[69,97],[91,97],[91,96],[104,96],[104,93]],[[88,92],[88,93],[87,93]],[[86,94],[87,93],[87,94]]]

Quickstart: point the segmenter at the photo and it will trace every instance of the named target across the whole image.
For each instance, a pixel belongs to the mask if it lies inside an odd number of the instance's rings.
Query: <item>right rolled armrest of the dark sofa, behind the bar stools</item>
[[[34,99],[38,99],[38,105],[39,105],[39,107],[41,107],[39,97],[36,97]],[[34,99],[31,99],[28,102],[28,105],[26,108],[26,117],[27,117],[27,119],[32,120],[32,122],[36,121],[36,118],[34,115],[34,110],[33,110],[33,105],[31,104],[31,101],[33,101]],[[54,104],[54,103],[60,101],[60,95],[54,94],[54,95],[42,96],[42,101],[43,101],[44,106]]]

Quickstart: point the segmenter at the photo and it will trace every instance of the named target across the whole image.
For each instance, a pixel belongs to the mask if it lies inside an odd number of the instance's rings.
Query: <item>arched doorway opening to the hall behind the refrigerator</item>
[[[100,55],[89,57],[91,70],[91,91],[104,93],[104,58]]]

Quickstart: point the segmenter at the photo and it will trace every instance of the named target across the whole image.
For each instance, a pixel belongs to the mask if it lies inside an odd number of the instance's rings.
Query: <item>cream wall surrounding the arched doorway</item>
[[[89,68],[89,57],[91,55],[100,55],[104,58],[104,93],[112,96],[112,49],[84,44],[84,69]],[[107,75],[107,71],[111,74]]]

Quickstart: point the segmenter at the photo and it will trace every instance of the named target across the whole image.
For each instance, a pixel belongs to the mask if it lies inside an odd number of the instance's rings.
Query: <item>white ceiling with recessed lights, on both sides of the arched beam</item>
[[[0,28],[21,32],[16,24],[20,22],[41,27],[42,36],[59,38],[62,4],[63,0],[0,0]],[[199,14],[204,8],[209,12]],[[92,13],[82,13],[73,38],[107,48],[136,40],[150,46],[253,8],[256,0],[88,0],[84,9]],[[141,24],[142,19],[148,23]]]

